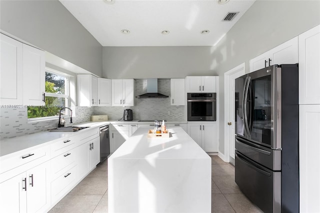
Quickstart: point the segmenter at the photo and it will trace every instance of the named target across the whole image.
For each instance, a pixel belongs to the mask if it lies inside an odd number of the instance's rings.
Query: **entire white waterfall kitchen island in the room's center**
[[[108,212],[211,212],[211,158],[180,127],[138,128],[108,158]]]

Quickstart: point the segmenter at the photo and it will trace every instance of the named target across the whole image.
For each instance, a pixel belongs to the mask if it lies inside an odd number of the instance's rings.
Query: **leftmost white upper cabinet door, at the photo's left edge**
[[[0,33],[1,104],[22,104],[22,43]]]

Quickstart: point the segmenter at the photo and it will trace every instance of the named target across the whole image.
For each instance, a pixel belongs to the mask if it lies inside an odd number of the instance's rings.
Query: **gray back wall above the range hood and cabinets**
[[[216,75],[211,46],[103,47],[103,77],[178,78]]]

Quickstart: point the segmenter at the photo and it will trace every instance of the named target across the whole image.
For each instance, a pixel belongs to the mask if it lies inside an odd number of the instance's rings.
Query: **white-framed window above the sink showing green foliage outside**
[[[68,107],[69,78],[55,70],[45,69],[45,105],[28,106],[28,120],[57,118],[60,109]],[[61,115],[69,115],[69,110],[63,109]]]

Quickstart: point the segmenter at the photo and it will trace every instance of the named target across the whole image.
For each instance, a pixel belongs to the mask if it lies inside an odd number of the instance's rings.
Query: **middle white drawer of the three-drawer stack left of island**
[[[75,150],[71,149],[66,152],[63,152],[62,154],[59,154],[58,156],[52,158],[51,161],[51,172],[53,178],[56,177],[56,175],[61,174],[63,172],[63,169],[74,162],[75,160]]]

